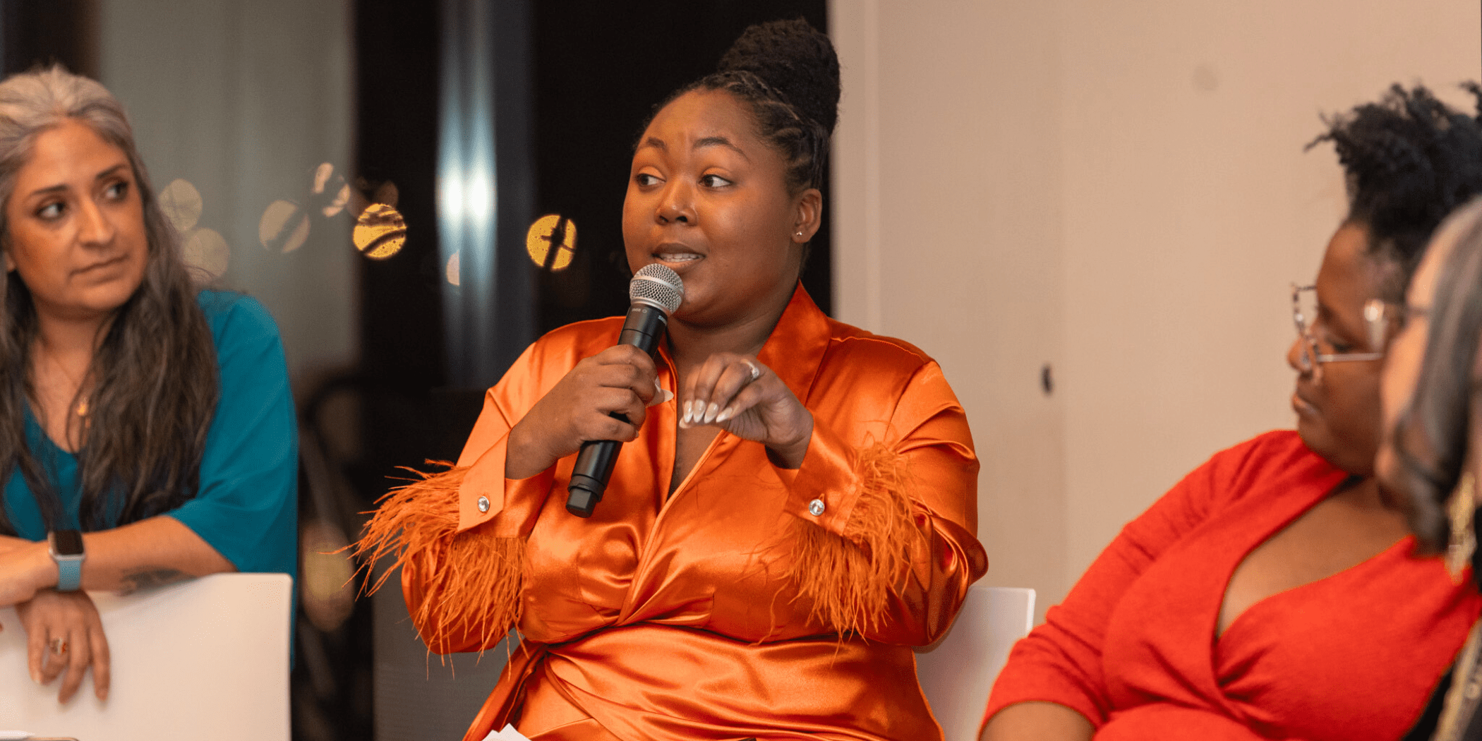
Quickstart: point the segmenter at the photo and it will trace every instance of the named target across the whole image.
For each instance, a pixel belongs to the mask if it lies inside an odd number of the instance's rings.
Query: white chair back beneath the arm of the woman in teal
[[[124,597],[93,593],[113,657],[108,701],[92,671],[65,705],[61,679],[25,665],[25,628],[0,609],[0,729],[80,741],[289,738],[286,574],[216,574]]]

